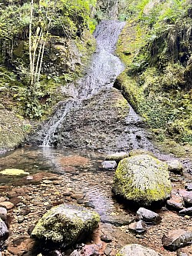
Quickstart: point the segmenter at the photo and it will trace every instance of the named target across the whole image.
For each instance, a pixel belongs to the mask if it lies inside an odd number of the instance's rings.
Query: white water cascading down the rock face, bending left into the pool
[[[52,144],[59,125],[72,108],[78,108],[82,101],[97,94],[102,88],[111,88],[114,85],[115,78],[124,70],[120,59],[112,54],[124,25],[125,22],[103,21],[95,29],[94,38],[98,46],[87,75],[81,78],[76,85],[70,84],[63,88],[63,91],[71,95],[71,98],[65,102],[64,108],[62,107],[45,125],[45,129],[48,127],[48,130],[42,129],[41,133],[44,137],[42,145]]]

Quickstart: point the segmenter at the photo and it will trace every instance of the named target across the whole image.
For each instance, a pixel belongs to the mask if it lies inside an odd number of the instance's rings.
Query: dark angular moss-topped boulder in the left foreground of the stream
[[[63,248],[75,244],[98,227],[97,212],[70,204],[51,208],[36,224],[31,238],[60,244]]]

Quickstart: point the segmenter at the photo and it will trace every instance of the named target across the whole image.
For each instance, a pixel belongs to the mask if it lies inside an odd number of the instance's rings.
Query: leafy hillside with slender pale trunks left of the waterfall
[[[94,50],[94,0],[2,1],[1,108],[41,118]]]

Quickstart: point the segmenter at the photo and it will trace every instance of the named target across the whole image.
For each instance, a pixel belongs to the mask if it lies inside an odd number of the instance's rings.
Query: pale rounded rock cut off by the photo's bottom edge
[[[145,248],[140,244],[127,244],[118,252],[116,256],[161,256],[156,251]]]

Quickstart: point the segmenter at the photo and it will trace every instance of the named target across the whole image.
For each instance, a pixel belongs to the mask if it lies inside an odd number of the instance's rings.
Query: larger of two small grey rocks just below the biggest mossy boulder
[[[137,219],[150,224],[157,224],[161,221],[161,216],[159,214],[145,208],[139,208],[136,217]]]

